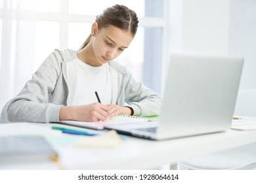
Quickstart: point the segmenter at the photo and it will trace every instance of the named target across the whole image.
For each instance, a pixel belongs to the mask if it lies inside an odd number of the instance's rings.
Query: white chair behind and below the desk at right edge
[[[256,116],[256,89],[238,92],[234,114]],[[178,162],[177,169],[256,169],[256,142]]]

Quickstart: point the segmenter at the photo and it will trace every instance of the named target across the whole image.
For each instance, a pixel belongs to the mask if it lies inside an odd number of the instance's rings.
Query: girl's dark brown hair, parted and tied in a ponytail
[[[102,14],[96,16],[95,22],[98,23],[98,29],[106,28],[113,25],[124,31],[131,31],[133,37],[137,33],[139,20],[135,11],[125,7],[124,5],[114,5],[106,8]],[[85,48],[92,39],[92,35],[83,42],[80,50]]]

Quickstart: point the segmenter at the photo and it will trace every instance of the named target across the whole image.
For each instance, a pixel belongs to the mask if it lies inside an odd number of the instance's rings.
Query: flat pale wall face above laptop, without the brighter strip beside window
[[[228,10],[228,0],[184,0],[183,50],[227,54]]]

